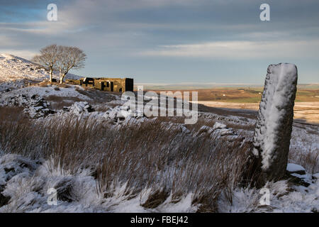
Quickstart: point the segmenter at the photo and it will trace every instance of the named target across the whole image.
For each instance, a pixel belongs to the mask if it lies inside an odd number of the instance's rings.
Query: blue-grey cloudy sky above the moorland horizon
[[[0,52],[30,60],[54,43],[84,50],[83,77],[263,84],[268,65],[290,62],[299,84],[318,83],[319,1],[0,0]]]

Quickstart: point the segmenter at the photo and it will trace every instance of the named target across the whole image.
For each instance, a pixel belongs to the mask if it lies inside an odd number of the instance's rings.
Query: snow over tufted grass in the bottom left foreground
[[[2,194],[10,196],[9,204],[0,207],[0,212],[148,212],[142,207],[141,199],[147,198],[150,189],[128,199],[125,184],[116,187],[114,195],[103,198],[96,192],[96,181],[89,170],[82,170],[77,175],[50,170],[49,163],[36,164],[38,160],[28,160],[20,155],[0,156],[0,185],[6,184]],[[21,167],[27,163],[27,167]],[[4,169],[12,169],[6,173]],[[70,201],[58,199],[57,206],[47,204],[47,189],[55,188],[63,192],[72,187]],[[167,206],[167,207],[166,207]],[[196,211],[191,204],[191,194],[176,204],[166,203],[153,211]]]

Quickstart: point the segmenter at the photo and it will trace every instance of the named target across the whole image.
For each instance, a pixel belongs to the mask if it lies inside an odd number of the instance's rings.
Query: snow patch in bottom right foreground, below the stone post
[[[235,189],[233,204],[222,203],[221,212],[274,212],[309,213],[319,210],[319,180],[309,187],[289,186],[286,181],[269,182],[269,206],[259,203],[262,194],[258,189]]]

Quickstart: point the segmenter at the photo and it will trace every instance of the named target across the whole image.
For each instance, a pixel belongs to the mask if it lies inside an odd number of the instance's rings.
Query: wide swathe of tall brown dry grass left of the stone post
[[[192,193],[198,211],[216,212],[221,195],[232,202],[250,148],[240,140],[229,143],[208,134],[194,137],[201,123],[185,134],[179,123],[159,118],[113,129],[108,122],[89,119],[21,117],[0,122],[0,144],[5,153],[51,160],[51,169],[74,175],[91,169],[104,197],[125,184],[128,199],[150,189],[141,204],[147,208],[159,206],[169,194],[177,202]]]

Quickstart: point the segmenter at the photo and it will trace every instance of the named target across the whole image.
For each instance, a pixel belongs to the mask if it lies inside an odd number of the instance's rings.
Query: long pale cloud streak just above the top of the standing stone
[[[318,57],[319,40],[217,41],[181,45],[162,45],[139,55],[165,57],[212,57],[255,59],[276,57]]]

